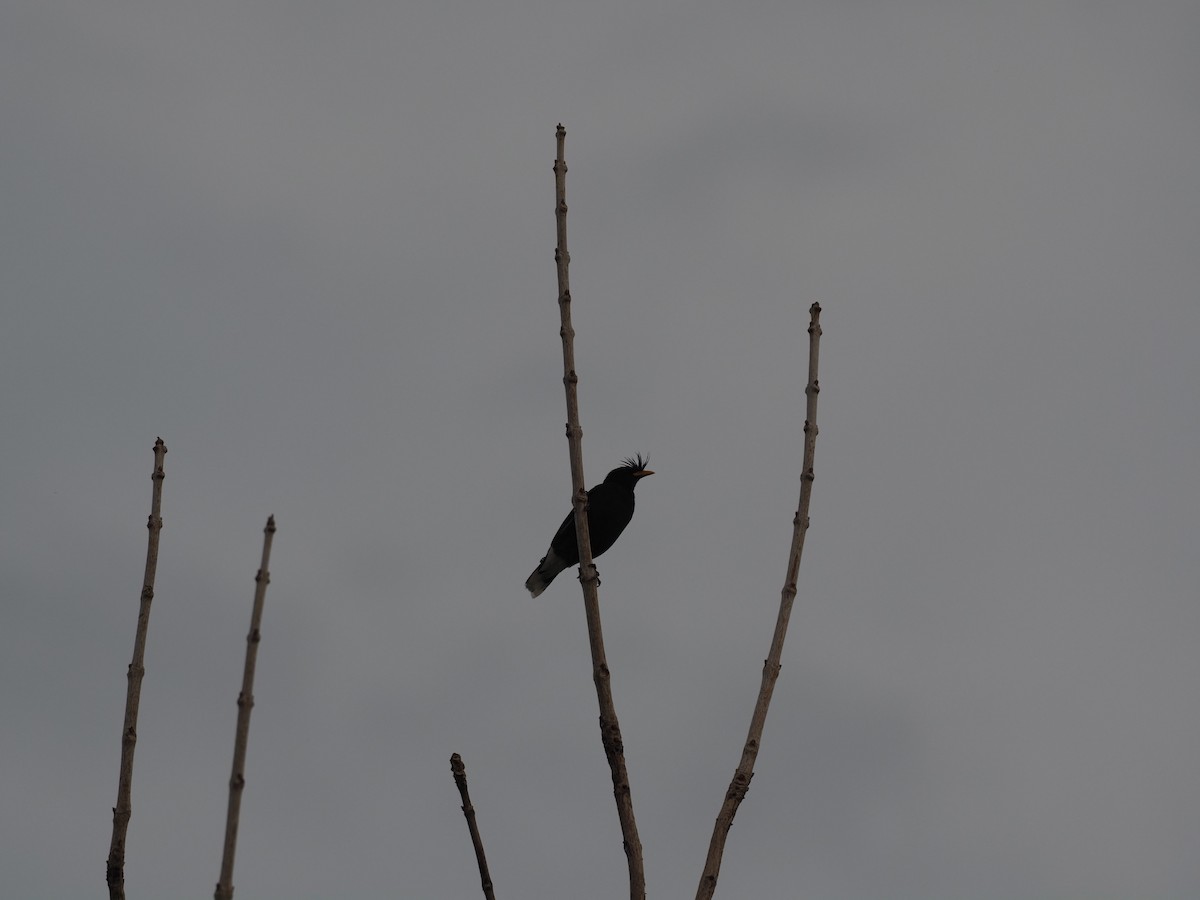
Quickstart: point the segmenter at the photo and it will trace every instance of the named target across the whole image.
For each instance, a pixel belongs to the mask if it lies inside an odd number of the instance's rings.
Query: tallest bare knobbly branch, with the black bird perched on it
[[[571,452],[571,504],[575,510],[575,533],[580,545],[580,582],[583,586],[583,607],[588,620],[588,642],[592,647],[592,679],[596,685],[600,703],[600,739],[605,757],[612,772],[612,792],[617,800],[617,817],[629,863],[629,895],[631,900],[646,898],[646,871],[642,864],[642,841],[637,836],[634,818],[634,800],[629,791],[629,773],[625,770],[625,748],[617,722],[617,709],[612,702],[608,662],[604,652],[604,631],[600,626],[600,578],[592,559],[592,535],[588,532],[588,494],[583,486],[583,430],[580,427],[580,403],[576,391],[578,376],[575,373],[575,329],[571,326],[571,288],[568,270],[571,254],[566,250],[566,160],[564,145],[566,128],[558,126],[558,158],[554,161],[554,215],[558,223],[558,246],[554,260],[558,264],[558,310],[562,317],[563,337],[563,386],[566,390],[566,439]]]

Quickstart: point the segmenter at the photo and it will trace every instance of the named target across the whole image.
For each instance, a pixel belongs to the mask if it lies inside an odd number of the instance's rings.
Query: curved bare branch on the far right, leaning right
[[[762,686],[758,689],[758,700],[750,719],[750,732],[742,748],[742,760],[733,773],[728,790],[725,792],[725,802],[721,804],[716,823],[713,827],[713,839],[708,845],[708,858],[704,860],[704,874],[701,876],[700,888],[696,890],[697,900],[709,900],[716,890],[716,876],[721,870],[725,839],[730,834],[730,827],[733,824],[733,816],[737,815],[738,806],[745,799],[746,791],[750,790],[754,764],[758,758],[758,746],[762,743],[762,730],[767,722],[767,708],[770,706],[770,697],[775,690],[775,679],[779,678],[779,660],[784,653],[787,622],[792,616],[792,601],[796,600],[796,576],[800,568],[800,556],[804,553],[804,535],[809,530],[809,500],[812,497],[814,479],[812,458],[816,455],[817,444],[817,394],[821,391],[821,384],[817,380],[821,305],[812,304],[809,307],[809,314],[811,320],[809,323],[809,384],[804,389],[808,395],[808,409],[804,419],[804,470],[800,474],[800,503],[796,510],[796,517],[792,520],[792,548],[787,559],[787,578],[784,582],[779,601],[779,617],[775,619],[775,634],[770,638],[770,652],[762,665]]]

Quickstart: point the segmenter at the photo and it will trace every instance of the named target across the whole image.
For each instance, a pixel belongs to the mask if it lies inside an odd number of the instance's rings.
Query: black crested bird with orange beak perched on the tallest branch
[[[634,488],[638,480],[654,473],[646,468],[649,460],[642,455],[629,456],[607,475],[604,482],[588,491],[588,534],[592,538],[592,557],[599,557],[617,542],[625,526],[634,517]],[[554,532],[550,550],[538,563],[533,575],[526,581],[526,589],[538,596],[560,571],[580,562],[578,538],[575,534],[575,510]]]

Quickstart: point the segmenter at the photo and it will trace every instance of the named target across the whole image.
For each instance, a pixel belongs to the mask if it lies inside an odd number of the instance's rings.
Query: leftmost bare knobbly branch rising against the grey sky
[[[150,499],[150,518],[146,528],[146,568],[142,578],[142,602],[138,608],[138,628],[133,637],[133,661],[126,673],[125,725],[121,728],[121,770],[116,786],[116,805],[113,808],[113,840],[108,847],[108,896],[125,900],[125,835],[133,815],[131,788],[133,785],[133,750],[138,743],[138,704],[142,700],[142,679],[145,676],[146,630],[150,626],[150,604],[154,601],[154,580],[158,569],[158,534],[162,532],[162,482],[163,457],[167,445],[158,438],[154,445],[154,491]]]

